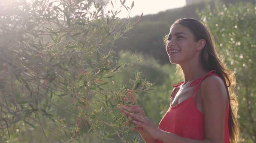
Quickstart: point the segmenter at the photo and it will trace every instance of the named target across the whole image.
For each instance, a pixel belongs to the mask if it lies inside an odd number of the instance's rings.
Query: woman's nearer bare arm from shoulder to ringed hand
[[[164,143],[223,143],[227,92],[223,81],[216,76],[207,77],[201,83],[201,99],[204,114],[204,140],[192,140],[158,129],[148,118],[129,114],[134,124],[143,128],[153,139]],[[142,121],[143,118],[143,122]]]

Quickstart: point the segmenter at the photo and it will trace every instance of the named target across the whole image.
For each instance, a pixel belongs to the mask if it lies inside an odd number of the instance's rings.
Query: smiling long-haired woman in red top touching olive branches
[[[159,127],[138,105],[125,106],[129,113],[120,108],[134,118],[133,130],[146,143],[236,143],[235,78],[219,60],[210,32],[196,19],[178,19],[165,43],[170,62],[183,71],[184,82],[173,85],[171,105]]]

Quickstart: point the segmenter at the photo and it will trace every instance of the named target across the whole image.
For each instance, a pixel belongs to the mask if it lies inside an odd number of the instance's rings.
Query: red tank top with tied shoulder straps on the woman
[[[193,95],[195,94],[195,101],[196,101],[196,94],[197,89],[199,88],[201,82],[208,76],[214,75],[216,71],[212,70],[207,73],[205,77],[201,77],[199,79],[194,80],[190,83],[190,86],[196,86],[193,90],[191,97],[186,99],[185,101],[177,104],[176,106],[170,108],[165,113],[164,117],[159,123],[159,129],[167,131],[169,133],[177,134],[181,137],[186,137],[189,139],[194,140],[204,140],[204,115],[197,109],[196,103],[193,101]],[[224,81],[223,81],[224,82]],[[178,88],[184,82],[180,82],[174,84],[174,88]],[[226,85],[226,83],[224,82]],[[228,89],[226,86],[226,90],[228,93]],[[173,90],[174,91],[174,90]],[[173,92],[171,93],[171,97]],[[229,117],[229,94],[228,94],[228,105],[226,107],[226,116],[225,116],[225,135],[224,135],[224,143],[229,143],[229,129],[228,129],[228,117]],[[163,143],[157,140],[157,143]]]

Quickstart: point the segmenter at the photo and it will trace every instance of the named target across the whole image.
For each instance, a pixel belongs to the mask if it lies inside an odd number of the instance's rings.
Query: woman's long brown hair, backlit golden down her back
[[[206,43],[204,48],[201,50],[201,64],[205,71],[216,70],[216,74],[220,76],[225,81],[226,86],[228,87],[229,93],[229,141],[230,143],[239,142],[239,127],[237,122],[237,110],[238,110],[238,102],[237,96],[235,95],[235,75],[234,72],[230,71],[226,64],[220,61],[220,58],[216,52],[213,36],[211,32],[204,26],[204,24],[193,18],[184,18],[177,19],[171,28],[174,25],[183,25],[189,28],[192,34],[195,37],[195,41],[199,41],[200,39],[205,39]],[[167,44],[168,35],[165,36],[164,42]],[[182,71],[181,67],[177,65],[178,71]],[[182,73],[183,74],[183,73]]]

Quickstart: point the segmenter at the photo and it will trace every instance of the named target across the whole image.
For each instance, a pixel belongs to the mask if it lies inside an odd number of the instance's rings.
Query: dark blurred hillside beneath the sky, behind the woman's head
[[[254,0],[221,0],[225,4],[235,3],[237,1],[250,1],[255,3]],[[214,2],[209,3],[214,6]],[[166,10],[159,12],[155,15],[143,16],[141,22],[136,25],[130,32],[126,33],[124,37],[115,42],[116,53],[120,50],[128,50],[132,52],[142,53],[144,56],[150,55],[154,57],[159,63],[169,63],[168,55],[165,52],[163,38],[168,34],[171,24],[177,18],[198,18],[196,9],[202,10],[205,8],[205,3],[196,3],[189,6]],[[138,16],[133,20],[136,21]]]

